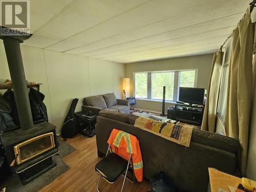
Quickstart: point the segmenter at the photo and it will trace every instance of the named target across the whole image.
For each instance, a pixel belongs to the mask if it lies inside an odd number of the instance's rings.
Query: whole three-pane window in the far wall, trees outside
[[[165,86],[165,99],[177,101],[179,88],[196,87],[196,77],[197,70],[134,73],[135,97],[162,100]]]

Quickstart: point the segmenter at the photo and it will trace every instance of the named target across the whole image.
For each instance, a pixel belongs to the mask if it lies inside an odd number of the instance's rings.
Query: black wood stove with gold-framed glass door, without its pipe
[[[29,130],[16,129],[0,135],[7,160],[23,184],[27,184],[56,164],[52,156],[58,154],[55,126],[40,122]],[[16,163],[14,163],[16,162]]]

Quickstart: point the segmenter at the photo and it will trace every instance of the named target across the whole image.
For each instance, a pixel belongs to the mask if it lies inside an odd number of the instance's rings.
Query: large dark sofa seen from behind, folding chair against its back
[[[239,142],[218,134],[193,130],[190,147],[168,141],[155,134],[133,126],[137,116],[100,111],[97,116],[96,140],[98,156],[108,149],[113,128],[136,136],[140,142],[143,159],[143,177],[150,179],[163,171],[177,186],[178,191],[207,191],[208,167],[230,174],[239,173],[237,154]]]

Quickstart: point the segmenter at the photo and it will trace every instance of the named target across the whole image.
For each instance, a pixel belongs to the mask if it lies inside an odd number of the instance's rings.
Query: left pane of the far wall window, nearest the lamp
[[[147,73],[135,73],[135,97],[147,98]]]

